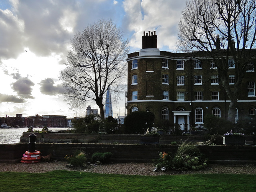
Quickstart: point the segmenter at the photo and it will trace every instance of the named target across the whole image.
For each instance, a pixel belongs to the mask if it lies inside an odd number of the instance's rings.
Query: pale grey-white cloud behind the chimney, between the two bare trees
[[[124,0],[124,23],[127,30],[132,31],[131,46],[142,48],[143,31],[156,30],[158,48],[167,46],[174,50],[181,17],[180,10],[185,3],[186,1],[174,0]]]

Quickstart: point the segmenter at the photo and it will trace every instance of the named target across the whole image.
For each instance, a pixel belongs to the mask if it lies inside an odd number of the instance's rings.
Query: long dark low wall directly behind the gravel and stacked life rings
[[[112,152],[114,162],[152,162],[160,152],[177,151],[178,146],[159,144],[64,144],[64,143],[36,143],[36,150],[46,156],[53,154],[54,160],[64,160],[66,154],[72,155],[74,150],[82,149],[92,156],[94,152]],[[256,164],[256,146],[198,146],[200,152],[206,155],[211,163],[243,163]],[[24,152],[28,150],[28,143],[0,144],[0,162],[20,162]]]

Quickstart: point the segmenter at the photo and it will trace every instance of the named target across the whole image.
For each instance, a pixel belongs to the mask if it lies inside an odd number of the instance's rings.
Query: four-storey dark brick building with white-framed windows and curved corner
[[[156,43],[155,32],[144,32],[142,49],[128,54],[128,114],[147,110],[154,113],[156,126],[162,120],[168,120],[178,123],[182,130],[202,125],[207,114],[227,118],[230,101],[210,58],[202,52],[160,51]],[[229,84],[232,86],[235,82],[234,60],[229,60],[229,66]],[[242,82],[234,122],[255,116],[255,81],[251,62]]]

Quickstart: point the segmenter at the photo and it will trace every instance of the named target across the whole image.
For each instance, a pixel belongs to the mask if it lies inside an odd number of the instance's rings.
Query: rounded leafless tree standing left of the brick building
[[[124,91],[125,58],[129,41],[112,20],[102,19],[78,32],[71,40],[67,67],[60,72],[65,88],[65,101],[72,108],[94,101],[104,119],[104,94],[108,87],[116,93]],[[117,94],[117,95],[118,95]]]

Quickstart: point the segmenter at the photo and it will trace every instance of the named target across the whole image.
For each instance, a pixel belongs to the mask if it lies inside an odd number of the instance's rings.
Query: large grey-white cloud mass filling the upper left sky
[[[64,60],[70,39],[99,18],[121,20],[122,4],[113,0],[13,0],[0,9],[0,62],[17,58],[28,48],[37,56],[58,55]],[[118,15],[118,17],[116,16]],[[60,64],[63,64],[60,62]]]

